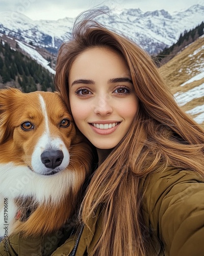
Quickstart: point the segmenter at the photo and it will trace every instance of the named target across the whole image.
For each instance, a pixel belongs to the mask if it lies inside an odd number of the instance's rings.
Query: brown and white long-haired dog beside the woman
[[[0,90],[0,151],[0,237],[59,230],[92,161],[60,94]]]

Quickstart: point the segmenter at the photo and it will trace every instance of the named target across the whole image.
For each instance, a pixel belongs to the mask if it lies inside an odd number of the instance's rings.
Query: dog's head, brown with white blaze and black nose
[[[58,93],[0,91],[1,162],[53,175],[68,166],[75,136],[72,117]]]

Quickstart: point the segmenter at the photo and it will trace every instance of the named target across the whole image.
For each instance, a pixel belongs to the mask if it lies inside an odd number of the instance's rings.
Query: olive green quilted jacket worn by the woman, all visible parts
[[[204,255],[204,179],[194,172],[169,168],[147,175],[141,181],[141,189],[146,227],[143,235],[151,240],[151,255]],[[75,254],[72,252],[79,235],[58,231],[45,238],[23,240],[18,235],[7,243],[4,240],[0,255],[89,255],[101,233],[103,214],[99,213],[100,209],[90,220],[92,232],[83,228]]]

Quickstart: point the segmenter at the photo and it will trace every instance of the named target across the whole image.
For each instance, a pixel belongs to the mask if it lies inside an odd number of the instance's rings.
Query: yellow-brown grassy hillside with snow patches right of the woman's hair
[[[182,109],[204,127],[204,37],[159,70]]]

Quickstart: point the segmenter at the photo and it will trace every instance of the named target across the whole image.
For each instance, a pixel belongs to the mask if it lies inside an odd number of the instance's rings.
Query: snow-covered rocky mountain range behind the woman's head
[[[15,12],[0,14],[1,33],[27,43],[31,41],[33,45],[53,53],[57,53],[62,42],[71,37],[74,18],[32,20]],[[203,5],[193,5],[173,14],[165,10],[143,12],[140,9],[123,9],[118,13],[110,10],[109,15],[99,15],[97,20],[130,37],[150,54],[157,54],[176,42],[185,30],[200,24],[203,14]]]

